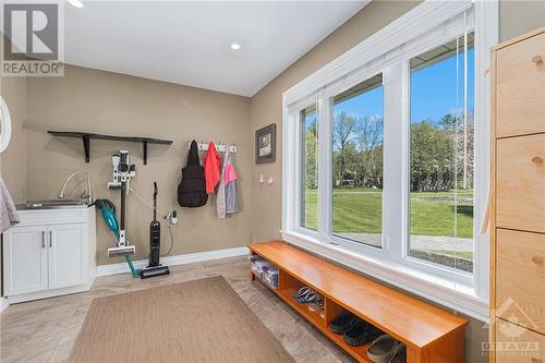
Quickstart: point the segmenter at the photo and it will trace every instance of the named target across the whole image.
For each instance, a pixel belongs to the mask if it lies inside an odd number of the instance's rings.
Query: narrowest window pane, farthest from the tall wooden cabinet
[[[301,110],[301,227],[318,228],[318,124],[316,106]]]

